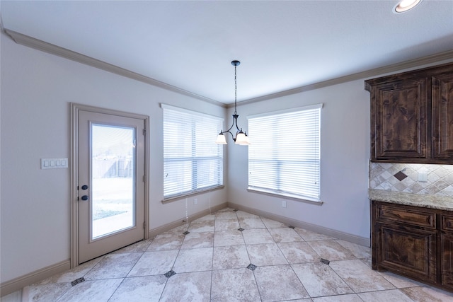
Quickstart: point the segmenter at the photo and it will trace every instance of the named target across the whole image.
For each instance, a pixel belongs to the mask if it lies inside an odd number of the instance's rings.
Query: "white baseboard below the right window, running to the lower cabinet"
[[[309,230],[309,231],[321,233],[321,234],[328,235],[328,236],[331,236],[334,238],[349,241],[351,243],[356,243],[358,245],[370,247],[371,240],[369,238],[352,235],[350,233],[344,233],[341,231],[333,230],[332,228],[316,226],[316,224],[299,221],[297,219],[291,219],[291,218],[288,218],[285,216],[280,216],[277,214],[272,214],[267,211],[261,211],[258,209],[244,207],[244,206],[241,206],[240,204],[234,204],[232,202],[228,202],[228,207],[230,207],[232,209],[239,209],[241,211],[246,211],[250,214],[255,214],[255,215],[262,216],[262,217],[265,217],[268,219],[273,219],[275,221],[280,221],[282,223],[286,223],[288,226],[296,226],[298,228],[305,228],[306,230]]]

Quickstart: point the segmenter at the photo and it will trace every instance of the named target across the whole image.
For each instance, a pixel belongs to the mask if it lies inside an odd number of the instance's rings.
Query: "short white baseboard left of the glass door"
[[[50,265],[48,267],[38,269],[35,272],[30,272],[29,274],[25,274],[21,277],[17,277],[9,281],[2,282],[0,287],[1,296],[11,294],[14,291],[23,289],[25,286],[37,283],[38,281],[41,281],[42,279],[46,279],[48,277],[52,277],[55,274],[65,272],[70,268],[71,261],[65,260],[62,262],[58,262],[55,265]]]

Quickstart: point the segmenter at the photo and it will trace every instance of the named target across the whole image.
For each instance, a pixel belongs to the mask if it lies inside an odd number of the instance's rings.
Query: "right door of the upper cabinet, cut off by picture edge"
[[[453,74],[432,77],[432,156],[453,159]]]

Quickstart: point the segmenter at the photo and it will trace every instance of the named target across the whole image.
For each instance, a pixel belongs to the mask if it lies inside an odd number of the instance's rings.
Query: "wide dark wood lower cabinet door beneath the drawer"
[[[436,281],[435,232],[378,223],[381,252],[377,265],[427,281]]]

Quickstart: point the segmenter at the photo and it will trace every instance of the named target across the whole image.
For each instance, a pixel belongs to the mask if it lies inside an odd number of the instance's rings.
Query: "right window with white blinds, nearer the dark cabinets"
[[[322,104],[248,117],[248,189],[320,202]]]

